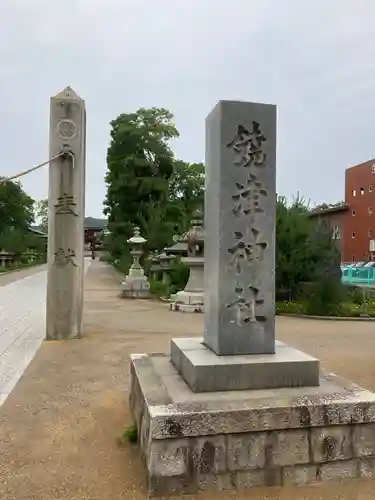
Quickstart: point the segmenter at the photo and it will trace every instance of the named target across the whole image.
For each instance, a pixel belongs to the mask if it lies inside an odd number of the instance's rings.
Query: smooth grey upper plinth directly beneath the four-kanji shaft
[[[281,342],[275,354],[217,356],[202,338],[173,339],[171,361],[193,392],[319,385],[319,360]]]

